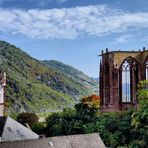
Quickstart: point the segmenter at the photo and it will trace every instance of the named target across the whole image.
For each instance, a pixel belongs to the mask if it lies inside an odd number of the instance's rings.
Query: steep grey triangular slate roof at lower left
[[[17,121],[13,120],[10,117],[5,118],[2,121],[2,128],[1,128],[1,141],[13,141],[13,140],[25,140],[25,139],[37,139],[39,136],[31,131],[30,129],[26,128],[22,124],[18,123]]]

